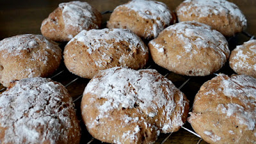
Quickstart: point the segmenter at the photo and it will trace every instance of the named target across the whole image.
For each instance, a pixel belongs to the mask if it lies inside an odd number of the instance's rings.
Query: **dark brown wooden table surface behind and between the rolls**
[[[40,26],[42,20],[47,18],[49,13],[51,13],[55,8],[58,7],[59,3],[67,2],[68,0],[1,0],[0,1],[0,40],[6,37],[21,35],[26,33],[40,34]],[[163,3],[166,3],[171,10],[175,10],[175,7],[178,6],[182,0],[159,0]],[[251,35],[256,35],[256,1],[255,0],[229,0],[241,9],[241,11],[246,16],[248,20],[248,27],[246,28],[246,32]],[[120,4],[124,4],[127,0],[86,0],[86,2],[92,4],[97,10],[100,12],[104,12],[106,10],[113,10],[116,6]],[[104,15],[104,21],[108,20],[109,14]],[[239,34],[230,40],[230,49],[233,49],[235,45],[241,44],[242,42],[248,40],[247,36]],[[63,45],[62,45],[63,46]],[[172,72],[168,72],[164,68],[158,67],[157,65],[152,64],[151,68],[156,68],[161,74],[167,74],[168,79],[172,80],[173,83],[179,87],[185,81],[188,83],[185,84],[180,90],[184,92],[191,104],[193,103],[193,99],[195,97],[196,92],[200,88],[200,86],[211,79],[214,76],[206,76],[206,77],[188,77],[188,76],[180,76],[177,74],[173,74]],[[74,74],[68,72],[65,66],[62,64],[59,68],[58,72],[63,72],[54,77],[54,81],[59,81],[60,83],[68,84],[70,81],[76,79],[74,83],[67,86],[68,91],[74,97],[74,100],[79,97],[83,93],[84,87],[88,83],[90,79],[83,79],[81,77],[77,77]],[[56,73],[58,73],[56,72]],[[233,74],[234,72],[230,70],[228,65],[220,70],[225,74]],[[79,103],[80,100],[76,100],[76,108],[77,113],[79,113]],[[79,114],[78,114],[79,116]],[[83,122],[81,122],[83,123]],[[83,126],[83,124],[81,124]],[[190,125],[187,123],[184,127],[188,127],[191,129]],[[81,143],[88,143],[88,141],[92,140],[92,136],[88,134],[86,129],[83,127],[83,138]],[[159,136],[156,143],[162,143],[162,141],[169,134],[161,134]],[[200,138],[191,134],[190,132],[180,129],[178,132],[173,132],[170,135],[170,138],[166,140],[165,143],[205,143],[205,141],[199,141]],[[90,143],[100,143],[100,141],[93,140]]]

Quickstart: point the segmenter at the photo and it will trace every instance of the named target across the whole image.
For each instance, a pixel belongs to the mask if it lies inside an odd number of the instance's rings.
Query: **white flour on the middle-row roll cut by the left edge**
[[[12,56],[19,56],[24,51],[33,51],[33,49],[38,49],[39,44],[45,43],[44,49],[47,51],[57,52],[60,50],[56,50],[55,45],[49,42],[44,36],[42,35],[33,35],[33,34],[26,34],[26,35],[17,35],[12,36],[10,38],[4,38],[0,41],[0,52],[4,51],[7,52],[6,54]],[[4,54],[4,56],[7,56]],[[45,58],[44,60],[47,60]]]

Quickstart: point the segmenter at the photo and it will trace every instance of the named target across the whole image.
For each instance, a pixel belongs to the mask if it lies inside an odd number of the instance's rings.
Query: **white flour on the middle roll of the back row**
[[[152,31],[155,38],[158,33],[164,29],[162,22],[164,22],[166,26],[169,26],[172,19],[172,15],[166,4],[159,1],[133,0],[120,6],[125,6],[130,10],[137,12],[143,19],[156,20],[156,24],[154,24]],[[119,8],[120,6],[117,6],[116,8]]]

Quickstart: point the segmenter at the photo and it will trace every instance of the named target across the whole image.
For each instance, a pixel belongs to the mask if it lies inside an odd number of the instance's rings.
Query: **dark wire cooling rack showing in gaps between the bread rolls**
[[[111,13],[112,11],[106,11],[102,12],[102,14]],[[232,51],[236,45],[241,45],[243,42],[246,42],[248,40],[255,39],[255,36],[250,35],[250,33],[246,33],[243,31],[242,33],[239,33],[233,37],[227,38],[230,51]],[[63,45],[61,44],[60,47],[63,49]],[[208,81],[209,79],[212,79],[218,73],[222,74],[235,74],[235,72],[229,67],[228,62],[226,65],[221,68],[218,72],[215,74],[212,74],[211,76],[204,76],[204,77],[191,77],[191,76],[181,76],[179,74],[175,74],[173,72],[170,72],[164,68],[159,67],[154,63],[154,61],[149,60],[147,68],[153,68],[156,69],[160,74],[162,74],[164,77],[170,79],[173,84],[177,88],[180,89],[181,92],[185,93],[186,97],[189,99],[189,106],[190,111],[193,108],[193,99],[195,98],[196,93],[198,92],[200,86],[202,86],[205,81]],[[58,81],[61,84],[63,84],[70,95],[73,98],[73,102],[75,103],[76,109],[77,109],[77,117],[79,118],[81,122],[81,129],[82,129],[82,136],[81,136],[81,143],[87,143],[87,144],[93,144],[93,143],[102,143],[99,140],[94,139],[86,130],[86,127],[83,123],[83,120],[81,118],[81,111],[80,111],[80,103],[81,98],[83,97],[83,90],[90,81],[90,79],[84,79],[78,76],[75,76],[74,74],[71,74],[68,72],[67,68],[65,68],[65,65],[63,62],[60,65],[60,68],[58,68],[58,71],[50,77],[54,81]],[[6,88],[4,88],[2,85],[0,86],[0,92],[4,92]],[[184,124],[178,132],[173,132],[170,134],[161,134],[156,141],[156,143],[164,144],[164,143],[205,143],[202,138],[196,132],[193,131],[192,127],[188,122]],[[176,137],[173,141],[173,137]]]

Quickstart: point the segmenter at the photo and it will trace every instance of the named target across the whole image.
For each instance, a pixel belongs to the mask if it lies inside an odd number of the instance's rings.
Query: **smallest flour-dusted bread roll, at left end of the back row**
[[[82,30],[98,29],[102,15],[90,4],[71,1],[59,4],[42,22],[41,33],[56,42],[68,42]]]

